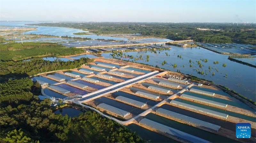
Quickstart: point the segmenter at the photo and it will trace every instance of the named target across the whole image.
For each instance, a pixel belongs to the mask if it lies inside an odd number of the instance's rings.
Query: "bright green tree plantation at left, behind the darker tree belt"
[[[8,43],[0,46],[0,60],[23,60],[37,56],[66,56],[81,54],[85,51],[82,49],[68,48],[56,43],[35,43],[24,42]]]

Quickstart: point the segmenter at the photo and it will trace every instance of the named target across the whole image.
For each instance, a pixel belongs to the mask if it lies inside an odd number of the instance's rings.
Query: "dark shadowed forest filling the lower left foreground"
[[[30,92],[33,84],[28,78],[0,84],[1,101],[2,97],[9,97],[12,102],[27,101],[6,106],[1,103],[1,143],[143,142],[136,133],[94,111],[74,118],[54,114],[51,100],[40,102]]]

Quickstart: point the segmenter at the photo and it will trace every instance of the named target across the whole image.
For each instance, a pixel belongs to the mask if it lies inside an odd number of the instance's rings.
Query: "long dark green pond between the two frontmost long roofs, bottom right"
[[[198,128],[190,126],[190,125],[182,124],[177,121],[174,121],[174,120],[171,120],[168,118],[164,118],[164,117],[158,116],[153,113],[149,113],[145,117],[149,120],[172,127],[174,129],[180,130],[182,132],[186,132],[188,134],[194,135],[201,139],[208,140],[210,142],[232,142],[232,143],[238,142],[236,140],[228,139],[226,137],[198,129]]]

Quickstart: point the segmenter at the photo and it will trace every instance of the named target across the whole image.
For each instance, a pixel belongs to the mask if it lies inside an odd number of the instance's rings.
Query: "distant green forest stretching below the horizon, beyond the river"
[[[96,34],[141,33],[172,40],[194,39],[207,43],[256,44],[255,24],[233,23],[41,23],[39,26],[56,26],[83,29]],[[201,29],[197,29],[201,28]],[[202,30],[202,28],[207,30]],[[81,34],[81,33],[80,33]]]

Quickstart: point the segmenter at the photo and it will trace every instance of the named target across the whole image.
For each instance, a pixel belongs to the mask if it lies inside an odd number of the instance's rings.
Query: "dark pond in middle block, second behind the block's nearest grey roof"
[[[130,98],[130,99],[133,99],[133,100],[136,100],[136,101],[140,101],[142,103],[147,103],[148,105],[150,106],[154,106],[156,105],[157,101],[154,101],[154,100],[150,100],[150,99],[147,99],[147,98],[142,98],[142,97],[138,97],[136,95],[132,95],[132,94],[129,94],[129,93],[125,93],[125,92],[122,92],[122,91],[118,91],[118,92],[114,92],[112,93],[112,96],[113,97],[118,97],[118,96],[123,96],[123,97],[127,97],[127,98]]]

